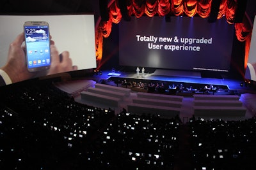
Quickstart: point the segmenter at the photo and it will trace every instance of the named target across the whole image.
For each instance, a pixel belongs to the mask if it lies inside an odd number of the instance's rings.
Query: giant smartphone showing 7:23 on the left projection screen
[[[47,70],[51,66],[49,24],[45,21],[24,23],[26,64],[29,72]]]

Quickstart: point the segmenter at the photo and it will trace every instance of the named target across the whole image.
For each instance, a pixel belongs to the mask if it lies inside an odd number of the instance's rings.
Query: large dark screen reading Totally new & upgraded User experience
[[[228,72],[234,25],[225,17],[214,23],[201,17],[132,17],[121,21],[122,66]]]

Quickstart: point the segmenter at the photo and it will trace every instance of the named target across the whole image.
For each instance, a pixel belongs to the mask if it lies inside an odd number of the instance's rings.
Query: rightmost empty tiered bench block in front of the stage
[[[246,108],[236,95],[194,94],[196,117],[244,117]]]

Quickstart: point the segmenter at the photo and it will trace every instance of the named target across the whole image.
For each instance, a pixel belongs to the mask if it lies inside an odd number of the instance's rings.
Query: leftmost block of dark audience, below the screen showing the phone
[[[80,169],[115,113],[79,104],[50,84],[1,91],[0,169]]]

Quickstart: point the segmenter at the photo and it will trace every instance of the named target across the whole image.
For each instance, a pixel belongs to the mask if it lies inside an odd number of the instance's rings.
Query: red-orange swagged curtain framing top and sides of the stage
[[[207,18],[211,12],[211,2],[214,0],[115,0],[109,5],[109,21],[100,21],[96,29],[96,57],[97,62],[102,59],[102,41],[108,38],[111,33],[112,24],[118,24],[122,19],[118,1],[126,1],[128,15],[134,15],[140,18],[143,15],[154,17],[159,15],[187,15],[193,17],[196,14],[202,18]],[[234,17],[237,9],[237,0],[221,0],[218,19],[225,17],[228,24],[234,24]],[[243,23],[234,24],[236,36],[239,41],[245,41],[246,49],[244,56],[244,67],[248,60],[248,51],[250,48],[250,36],[252,34],[252,25]]]

